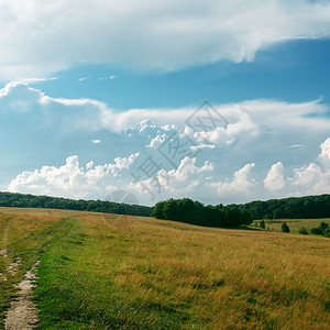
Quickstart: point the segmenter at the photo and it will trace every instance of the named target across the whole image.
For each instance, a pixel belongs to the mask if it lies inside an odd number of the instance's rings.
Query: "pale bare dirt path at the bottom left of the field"
[[[33,329],[37,322],[37,309],[32,302],[34,287],[33,280],[36,278],[37,261],[24,275],[24,279],[18,284],[20,288],[18,299],[11,304],[4,320],[4,329],[26,330]]]

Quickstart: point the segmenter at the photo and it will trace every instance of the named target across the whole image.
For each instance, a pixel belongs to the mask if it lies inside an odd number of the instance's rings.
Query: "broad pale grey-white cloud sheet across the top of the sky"
[[[42,76],[81,62],[174,70],[253,61],[274,43],[328,37],[329,22],[321,0],[2,0],[0,74]]]

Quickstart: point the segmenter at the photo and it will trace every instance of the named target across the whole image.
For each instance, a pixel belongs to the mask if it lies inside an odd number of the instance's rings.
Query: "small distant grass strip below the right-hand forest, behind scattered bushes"
[[[289,227],[290,232],[298,232],[301,227],[306,229],[311,229],[318,227],[321,222],[329,223],[330,218],[327,219],[276,219],[276,220],[265,220],[266,228],[268,227],[271,230],[282,231],[280,226],[283,222]],[[260,222],[256,220],[255,222]]]

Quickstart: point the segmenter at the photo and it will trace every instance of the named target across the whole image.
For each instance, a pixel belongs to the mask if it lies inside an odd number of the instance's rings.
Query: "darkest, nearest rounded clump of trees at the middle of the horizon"
[[[189,198],[160,201],[151,216],[207,227],[240,227],[252,223],[252,218],[245,210],[222,205],[205,206]]]

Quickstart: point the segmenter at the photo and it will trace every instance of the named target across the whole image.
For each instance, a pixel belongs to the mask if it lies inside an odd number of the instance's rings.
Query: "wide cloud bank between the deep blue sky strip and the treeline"
[[[189,195],[226,204],[330,191],[330,118],[322,100],[261,99],[213,107],[228,125],[202,135],[186,125],[193,107],[117,112],[97,100],[52,98],[26,82],[10,82],[0,89],[0,135],[6,141],[0,151],[7,155],[0,170],[10,164],[13,173],[6,187],[74,198],[103,198],[114,187],[131,187],[143,196],[142,184],[154,183],[143,178],[140,188],[130,186],[129,172],[138,155],[141,162],[152,155],[163,166],[157,173],[161,199]],[[177,127],[185,132],[179,133],[182,142],[188,136],[193,154],[199,153],[174,168],[158,147]],[[36,144],[38,154],[56,157],[35,164],[31,152]],[[108,155],[114,161],[109,163]],[[86,165],[79,165],[78,156]],[[12,168],[21,163],[25,167]]]

